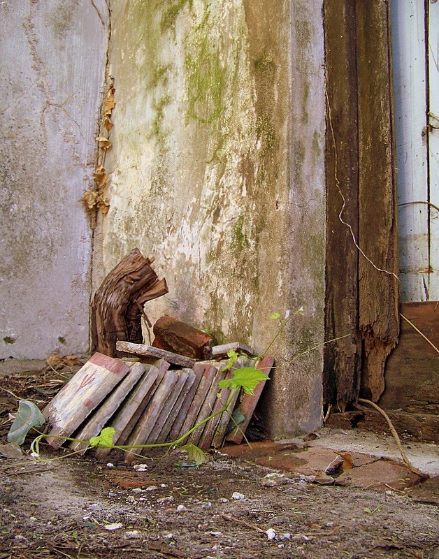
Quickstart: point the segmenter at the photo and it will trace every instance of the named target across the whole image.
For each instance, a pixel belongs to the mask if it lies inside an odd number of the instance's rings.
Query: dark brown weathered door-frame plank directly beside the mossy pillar
[[[358,108],[355,3],[325,0],[326,296],[324,404],[356,402],[361,378],[358,329]],[[350,229],[351,228],[351,229]],[[351,234],[352,233],[352,234]]]

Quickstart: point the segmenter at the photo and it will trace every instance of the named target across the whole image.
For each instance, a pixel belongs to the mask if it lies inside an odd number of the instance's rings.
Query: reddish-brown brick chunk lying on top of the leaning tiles
[[[168,314],[157,320],[152,331],[154,347],[192,359],[208,359],[211,356],[212,336]]]

